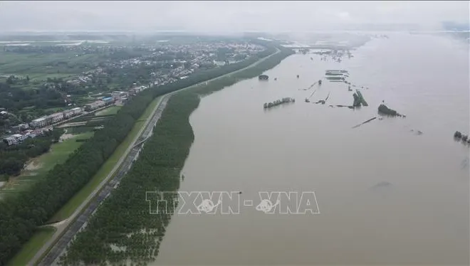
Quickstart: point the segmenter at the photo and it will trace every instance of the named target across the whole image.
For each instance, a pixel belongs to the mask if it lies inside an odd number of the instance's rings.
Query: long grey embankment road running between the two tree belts
[[[151,136],[152,129],[157,123],[158,119],[160,119],[160,117],[162,116],[162,111],[167,105],[169,97],[178,92],[182,92],[183,90],[189,90],[191,88],[197,87],[198,85],[202,85],[213,80],[218,80],[234,73],[239,73],[240,71],[246,70],[247,68],[251,68],[255,65],[258,65],[258,63],[261,63],[267,58],[270,58],[271,56],[276,55],[280,52],[281,50],[277,49],[276,53],[272,53],[266,58],[262,58],[256,61],[255,63],[247,66],[246,68],[241,68],[240,70],[221,75],[211,80],[206,80],[202,83],[197,83],[195,85],[185,87],[175,92],[170,92],[160,97],[160,101],[152,111],[152,117],[150,119],[147,119],[147,121],[145,122],[145,126],[140,129],[140,132],[137,134],[137,137],[135,137],[135,139],[132,141],[132,144],[129,145],[125,153],[122,154],[110,174],[106,176],[106,178],[100,183],[100,185],[95,188],[93,193],[91,193],[90,196],[88,196],[85,201],[83,201],[83,203],[75,210],[75,212],[69,218],[53,224],[53,226],[56,226],[57,228],[56,233],[54,233],[51,239],[43,245],[43,247],[36,253],[36,255],[34,255],[34,257],[28,262],[28,265],[34,265],[43,256],[43,254],[49,250],[51,245],[53,245],[53,247],[51,248],[51,250],[48,251],[46,256],[43,257],[43,260],[41,260],[38,265],[52,265],[53,262],[56,261],[58,256],[61,255],[63,250],[68,246],[68,243],[71,242],[74,235],[78,233],[78,230],[80,230],[80,228],[83,227],[85,222],[95,212],[96,208],[100,205],[100,203],[103,202],[103,200],[110,195],[110,192],[113,190],[113,188],[117,186],[120,179],[122,179],[122,177],[125,176],[127,171],[130,169],[130,166],[132,166],[132,162],[137,159],[139,151],[142,148],[140,144],[145,142],[145,140]],[[119,171],[116,174],[117,169],[119,169]],[[113,176],[114,178],[111,179]]]

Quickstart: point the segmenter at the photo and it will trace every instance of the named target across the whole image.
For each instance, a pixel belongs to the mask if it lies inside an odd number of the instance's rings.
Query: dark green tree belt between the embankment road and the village
[[[90,181],[155,97],[245,68],[274,50],[271,46],[248,60],[194,73],[184,80],[140,92],[105,122],[104,129],[74,151],[64,164],[58,164],[36,182],[31,191],[21,193],[14,200],[6,198],[0,201],[0,265],[6,265],[21,245],[31,238],[36,227],[46,223]]]

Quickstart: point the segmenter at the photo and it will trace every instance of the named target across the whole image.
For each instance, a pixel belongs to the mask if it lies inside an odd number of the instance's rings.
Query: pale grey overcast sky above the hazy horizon
[[[469,1],[0,1],[0,31],[310,31],[469,21]]]

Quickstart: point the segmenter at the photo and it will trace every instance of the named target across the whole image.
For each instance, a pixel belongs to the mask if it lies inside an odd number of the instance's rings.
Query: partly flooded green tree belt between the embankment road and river
[[[145,265],[158,254],[170,219],[169,214],[149,213],[146,191],[176,191],[179,173],[194,140],[189,115],[199,105],[201,95],[253,78],[291,55],[291,50],[271,56],[253,68],[229,75],[207,85],[181,92],[170,98],[154,134],[147,140],[120,186],[98,208],[86,228],[76,235],[63,265]],[[167,199],[171,204],[172,199]]]

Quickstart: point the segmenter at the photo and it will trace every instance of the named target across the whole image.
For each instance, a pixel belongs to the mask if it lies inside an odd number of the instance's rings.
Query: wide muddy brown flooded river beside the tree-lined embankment
[[[320,213],[174,215],[153,265],[468,265],[469,147],[453,139],[469,133],[468,44],[389,36],[341,63],[291,55],[268,82],[202,98],[181,191],[242,191],[254,206],[258,191],[315,191]],[[304,102],[326,69],[349,70],[369,107],[329,107],[352,92],[327,80]],[[263,110],[282,97],[296,102]],[[382,100],[407,117],[352,129]]]

